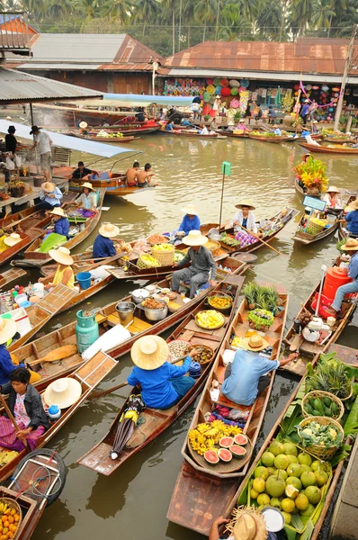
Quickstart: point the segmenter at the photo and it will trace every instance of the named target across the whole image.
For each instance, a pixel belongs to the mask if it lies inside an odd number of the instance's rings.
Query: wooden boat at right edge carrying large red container
[[[314,301],[315,296],[318,295],[318,291],[319,284],[313,289],[312,293],[309,294],[309,298],[302,305],[296,319],[300,320],[306,310],[309,311],[309,313],[311,313],[312,315],[314,314],[314,311],[311,308],[311,304]],[[294,331],[294,325],[293,323],[291,324],[290,329],[283,338],[283,343],[287,347],[293,347],[294,344],[297,344],[297,347],[295,348],[300,351],[300,357],[297,359],[296,362],[290,362],[290,364],[284,365],[282,369],[289,371],[292,374],[306,374],[306,366],[311,361],[312,357],[322,353],[325,348],[330,347],[333,343],[336,342],[336,340],[339,338],[339,336],[345,329],[345,326],[347,325],[351,316],[353,315],[355,310],[354,302],[345,302],[344,305],[346,305],[347,308],[345,311],[345,316],[343,319],[336,320],[336,324],[332,328],[332,334],[330,334],[327,330],[320,331],[319,340],[321,344],[319,344],[318,342],[311,343],[306,339],[303,339],[301,334],[300,340],[298,340],[298,335]]]

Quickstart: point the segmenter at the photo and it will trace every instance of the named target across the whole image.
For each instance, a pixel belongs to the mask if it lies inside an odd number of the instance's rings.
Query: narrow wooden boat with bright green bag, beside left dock
[[[99,220],[101,219],[105,189],[100,188],[99,192],[100,200],[97,206],[96,214],[93,218],[87,218],[85,220],[85,229],[81,230],[78,234],[76,234],[75,237],[70,238],[64,244],[64,247],[67,247],[67,249],[73,249],[74,247],[78,246],[78,244],[85,240],[85,238],[87,238],[87,236],[89,236],[91,232],[96,228]],[[12,261],[12,265],[21,267],[34,266],[39,268],[40,266],[49,263],[49,261],[51,260],[49,253],[40,253],[39,251],[37,251],[40,245],[41,241],[38,238],[37,240],[32,242],[31,246],[24,251],[23,259]]]

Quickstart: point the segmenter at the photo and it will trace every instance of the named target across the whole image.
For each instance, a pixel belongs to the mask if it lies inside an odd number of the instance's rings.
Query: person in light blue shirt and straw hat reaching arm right
[[[237,405],[248,406],[252,405],[270,384],[268,373],[289,364],[298,354],[292,353],[282,360],[269,360],[260,356],[257,353],[269,347],[269,343],[256,334],[246,338],[242,347],[245,348],[237,350],[233,362],[229,363],[225,370],[221,392]]]

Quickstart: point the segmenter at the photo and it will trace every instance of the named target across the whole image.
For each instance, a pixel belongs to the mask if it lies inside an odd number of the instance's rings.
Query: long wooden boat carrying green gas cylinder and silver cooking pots
[[[227,275],[243,275],[248,265],[246,263],[239,263],[232,257],[226,257],[224,259],[225,267],[231,269],[231,274],[228,271],[219,270],[217,274],[217,280],[220,282]],[[171,286],[170,279],[164,279],[157,282],[157,291],[161,289],[168,289]],[[182,297],[178,294],[174,301],[169,302],[168,314],[163,320],[157,322],[149,321],[143,309],[137,306],[136,311],[133,313],[133,322],[128,328],[130,331],[130,338],[123,341],[121,344],[112,347],[108,353],[112,358],[120,358],[130,351],[133,343],[136,339],[148,334],[161,334],[162,332],[171,329],[173,326],[181,322],[197,305],[212,291],[212,287],[205,289],[199,296],[196,296],[190,302],[183,302]],[[96,312],[96,320],[99,325],[99,334],[103,336],[108,329],[121,324],[121,319],[116,306],[119,302],[130,302],[131,296],[125,296],[115,302],[111,302]],[[17,342],[18,343],[18,342]],[[64,376],[72,373],[79,365],[83,364],[81,356],[72,355],[56,362],[42,361],[39,363],[40,358],[48,355],[51,351],[54,351],[58,347],[64,345],[76,345],[76,321],[67,324],[67,326],[50,332],[47,336],[38,338],[27,345],[13,348],[13,354],[18,358],[19,362],[24,362],[31,365],[32,369],[41,375],[39,383],[35,385],[42,389],[44,385],[47,385],[50,381],[58,376]],[[35,363],[35,365],[33,365]]]

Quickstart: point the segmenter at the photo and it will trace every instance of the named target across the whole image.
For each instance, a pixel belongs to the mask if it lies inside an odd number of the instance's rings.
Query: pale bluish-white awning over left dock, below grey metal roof
[[[20,123],[15,123],[13,121],[0,120],[0,133],[7,133],[9,126],[15,126],[16,137],[32,140],[32,135],[30,135],[31,127]],[[49,133],[53,144],[59,148],[68,148],[70,150],[76,150],[77,152],[94,154],[94,156],[113,157],[117,156],[118,154],[123,154],[124,152],[138,152],[138,150],[133,150],[132,148],[103,144],[103,142],[94,142],[94,140],[78,139],[76,137],[62,135],[61,133],[55,133],[49,130],[43,131]]]

